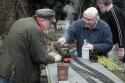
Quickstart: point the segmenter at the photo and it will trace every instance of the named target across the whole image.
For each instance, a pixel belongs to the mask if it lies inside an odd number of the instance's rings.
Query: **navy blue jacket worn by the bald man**
[[[83,19],[79,19],[71,24],[65,37],[67,43],[76,41],[78,56],[81,56],[84,39],[94,45],[94,49],[99,55],[106,55],[113,45],[110,27],[102,20],[98,21],[94,29],[89,30],[84,26]]]

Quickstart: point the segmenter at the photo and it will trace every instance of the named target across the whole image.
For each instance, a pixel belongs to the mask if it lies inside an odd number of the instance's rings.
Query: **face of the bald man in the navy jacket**
[[[85,21],[85,27],[88,27],[91,29],[96,24],[97,19],[94,15],[84,14],[84,21]]]

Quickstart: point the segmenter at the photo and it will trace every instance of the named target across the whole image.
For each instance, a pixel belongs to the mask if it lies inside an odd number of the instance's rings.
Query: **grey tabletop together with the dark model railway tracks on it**
[[[68,80],[63,82],[59,82],[57,76],[57,66],[60,63],[48,64],[46,67],[48,83],[124,83],[99,63],[78,59],[82,65],[77,61],[63,63],[69,67]]]

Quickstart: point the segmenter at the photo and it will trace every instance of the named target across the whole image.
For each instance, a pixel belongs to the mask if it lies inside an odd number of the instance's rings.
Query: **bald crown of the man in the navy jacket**
[[[98,10],[95,7],[87,8],[84,11],[83,16],[89,16],[90,18],[95,18],[97,20],[99,19]]]

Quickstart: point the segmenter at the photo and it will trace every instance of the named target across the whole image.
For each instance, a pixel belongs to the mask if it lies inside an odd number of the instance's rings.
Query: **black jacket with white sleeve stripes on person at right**
[[[111,28],[113,44],[118,43],[120,48],[125,47],[125,17],[122,10],[113,5],[110,11],[101,14],[101,19],[106,21]]]

